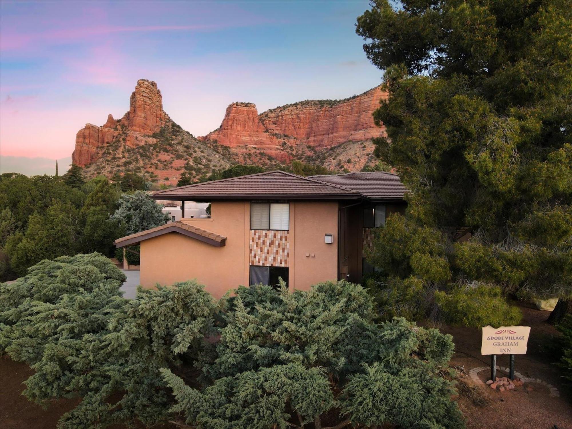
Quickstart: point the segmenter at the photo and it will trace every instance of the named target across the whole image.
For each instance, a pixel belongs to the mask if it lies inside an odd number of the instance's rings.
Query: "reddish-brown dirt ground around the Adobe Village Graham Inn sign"
[[[476,394],[484,406],[475,406],[473,400],[460,395],[459,407],[465,416],[468,428],[478,429],[572,429],[572,395],[570,386],[562,379],[554,359],[546,351],[546,346],[558,335],[554,327],[546,323],[547,311],[538,311],[532,305],[519,304],[523,312],[521,325],[530,326],[530,338],[526,355],[515,356],[515,371],[525,377],[544,380],[552,384],[560,393],[550,396],[546,386],[539,383],[525,384],[532,391],[520,387],[517,391],[497,392],[487,386],[477,385],[465,375],[462,379],[476,387]],[[441,332],[450,333],[455,339],[455,354],[451,365],[471,368],[490,368],[490,357],[480,355],[480,329],[442,327]],[[509,367],[509,357],[498,356],[496,364]],[[497,371],[497,376],[507,376]],[[479,378],[486,381],[490,371],[482,371]],[[459,389],[461,391],[461,389]]]

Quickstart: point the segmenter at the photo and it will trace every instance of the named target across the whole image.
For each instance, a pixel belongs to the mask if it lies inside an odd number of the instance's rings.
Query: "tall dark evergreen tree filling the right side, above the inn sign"
[[[392,223],[403,235],[382,233],[371,261],[414,240],[410,269],[385,275],[423,289],[426,314],[442,304],[466,323],[463,303],[499,286],[521,299],[572,296],[570,20],[554,0],[376,0],[358,18],[389,92],[374,113],[389,137],[376,154],[412,191],[409,219]],[[419,225],[434,231],[438,257],[416,247],[408,231]],[[472,237],[453,245],[459,227]]]

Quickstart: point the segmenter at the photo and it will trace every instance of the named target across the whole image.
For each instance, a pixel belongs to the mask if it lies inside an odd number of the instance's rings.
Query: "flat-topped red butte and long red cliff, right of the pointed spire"
[[[346,141],[362,141],[379,137],[385,130],[374,124],[372,114],[387,93],[379,87],[339,102],[303,101],[261,113],[256,106],[233,103],[218,130],[205,138],[235,147],[256,145],[277,148],[286,134],[299,142],[321,148]]]

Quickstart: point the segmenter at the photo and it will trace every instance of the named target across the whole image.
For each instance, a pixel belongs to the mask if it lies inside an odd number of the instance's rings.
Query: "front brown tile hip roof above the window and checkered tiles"
[[[196,183],[155,192],[156,200],[339,200],[362,196],[357,190],[343,185],[325,184],[310,177],[283,171],[272,171],[248,176],[231,177],[211,182]]]

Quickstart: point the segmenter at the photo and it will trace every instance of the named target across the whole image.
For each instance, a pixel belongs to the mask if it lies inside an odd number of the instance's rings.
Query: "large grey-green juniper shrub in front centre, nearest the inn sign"
[[[162,371],[176,397],[172,411],[205,428],[320,424],[332,412],[353,426],[463,427],[452,384],[439,375],[451,336],[404,319],[376,325],[374,317],[367,292],[345,281],[293,293],[284,284],[239,287],[215,359],[204,363],[210,385],[192,388]]]

